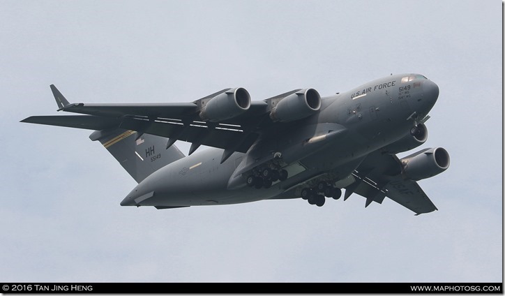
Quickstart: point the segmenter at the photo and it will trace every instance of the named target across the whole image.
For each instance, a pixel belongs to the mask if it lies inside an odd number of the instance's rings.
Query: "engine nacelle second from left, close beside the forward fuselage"
[[[289,122],[308,117],[321,108],[321,96],[315,89],[301,91],[282,98],[270,112],[273,121]]]

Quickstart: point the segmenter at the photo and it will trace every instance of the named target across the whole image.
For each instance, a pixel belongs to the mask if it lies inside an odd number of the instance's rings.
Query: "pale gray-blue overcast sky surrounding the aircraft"
[[[0,281],[502,281],[502,1],[0,1]],[[73,102],[322,96],[390,73],[440,96],[419,184],[439,211],[386,198],[161,210],[89,131],[21,124]],[[177,142],[187,154],[189,145]],[[203,149],[200,148],[200,149]]]

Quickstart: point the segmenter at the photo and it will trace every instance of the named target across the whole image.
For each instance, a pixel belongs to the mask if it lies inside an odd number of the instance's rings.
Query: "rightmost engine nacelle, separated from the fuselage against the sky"
[[[428,148],[414,156],[400,159],[403,175],[408,179],[419,181],[438,175],[449,168],[451,158],[444,148]]]

